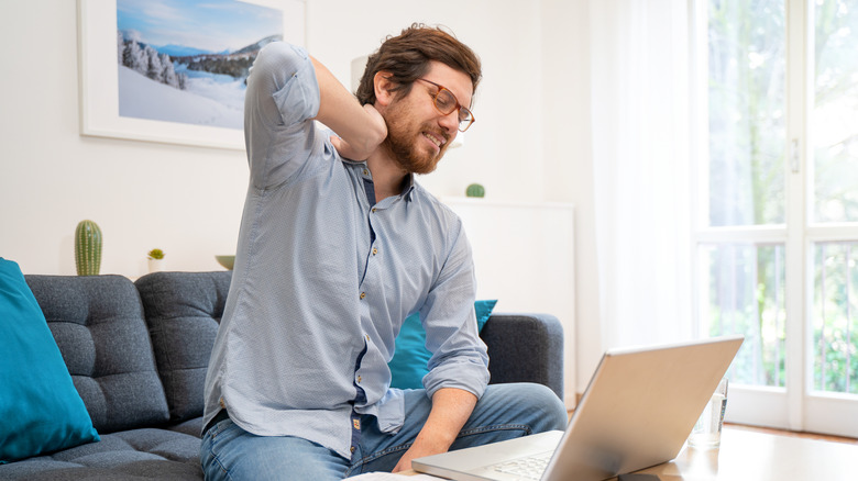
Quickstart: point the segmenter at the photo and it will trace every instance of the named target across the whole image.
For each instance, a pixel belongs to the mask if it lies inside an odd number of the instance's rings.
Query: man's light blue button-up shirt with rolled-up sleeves
[[[227,407],[248,432],[299,436],[350,458],[352,410],[384,432],[403,425],[387,362],[409,314],[420,312],[433,353],[427,395],[481,396],[488,357],[459,217],[413,177],[402,195],[371,205],[372,172],[339,156],[330,131],[310,120],[318,110],[307,53],[263,48],[248,79],[250,186],[205,422]]]

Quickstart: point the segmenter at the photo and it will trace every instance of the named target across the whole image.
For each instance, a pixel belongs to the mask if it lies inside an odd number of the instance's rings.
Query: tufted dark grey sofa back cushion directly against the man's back
[[[174,422],[202,415],[206,370],[231,271],[154,272],[135,284]]]

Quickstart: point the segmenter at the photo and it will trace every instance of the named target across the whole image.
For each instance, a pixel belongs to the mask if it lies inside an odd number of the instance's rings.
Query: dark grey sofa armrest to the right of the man
[[[536,382],[563,399],[563,326],[550,314],[492,314],[480,337],[490,383]]]

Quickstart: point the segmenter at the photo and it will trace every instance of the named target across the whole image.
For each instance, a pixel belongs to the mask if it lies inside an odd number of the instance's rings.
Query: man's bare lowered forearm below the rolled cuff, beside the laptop
[[[411,469],[413,459],[450,449],[475,405],[476,396],[468,391],[453,388],[436,391],[426,424],[394,471]]]

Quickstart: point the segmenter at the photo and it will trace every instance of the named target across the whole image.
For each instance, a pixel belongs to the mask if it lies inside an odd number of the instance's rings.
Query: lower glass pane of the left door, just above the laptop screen
[[[702,333],[745,335],[728,374],[737,383],[785,383],[784,253],[782,244],[700,247]]]

